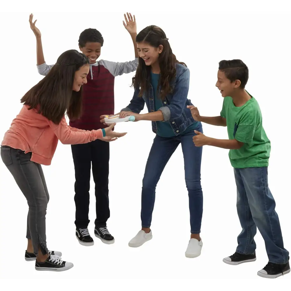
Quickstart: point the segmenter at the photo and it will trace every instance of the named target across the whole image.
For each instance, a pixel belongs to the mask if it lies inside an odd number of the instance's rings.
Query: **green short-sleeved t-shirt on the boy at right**
[[[225,97],[220,115],[226,118],[228,138],[244,143],[240,149],[229,151],[231,165],[234,168],[267,167],[271,143],[262,125],[257,100],[252,97],[243,106],[236,107],[231,97]]]

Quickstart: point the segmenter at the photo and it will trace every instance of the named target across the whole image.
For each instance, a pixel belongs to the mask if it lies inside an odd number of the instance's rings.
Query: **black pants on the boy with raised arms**
[[[109,142],[95,140],[90,143],[71,145],[75,167],[75,205],[77,228],[87,228],[89,220],[89,190],[91,163],[95,183],[95,227],[107,226],[110,217],[108,197]]]

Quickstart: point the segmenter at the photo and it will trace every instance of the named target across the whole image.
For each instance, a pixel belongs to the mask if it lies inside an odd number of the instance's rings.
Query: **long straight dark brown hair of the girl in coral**
[[[37,109],[55,124],[67,113],[71,120],[82,114],[82,86],[80,91],[73,91],[75,72],[89,59],[75,49],[63,52],[56,64],[41,81],[33,86],[20,100],[30,109]]]

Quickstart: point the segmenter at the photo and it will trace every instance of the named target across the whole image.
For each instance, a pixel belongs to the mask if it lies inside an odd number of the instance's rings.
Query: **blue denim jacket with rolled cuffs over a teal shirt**
[[[193,105],[191,100],[187,99],[189,81],[190,70],[184,65],[177,63],[176,78],[171,83],[171,86],[174,87],[173,93],[166,96],[166,99],[162,102],[163,107],[159,109],[164,115],[164,122],[170,123],[176,136],[196,122],[191,115],[190,109],[187,108],[187,105]],[[132,100],[121,111],[140,113],[145,104],[149,113],[155,111],[152,86],[150,85],[150,90],[146,90],[142,97],[138,97],[139,90],[134,89]],[[155,121],[152,121],[152,131],[157,133],[157,123]]]

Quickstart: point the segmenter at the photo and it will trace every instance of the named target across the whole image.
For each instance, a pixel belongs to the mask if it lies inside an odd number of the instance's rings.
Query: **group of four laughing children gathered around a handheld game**
[[[79,243],[94,244],[88,230],[91,164],[96,197],[94,234],[106,244],[114,243],[107,228],[110,216],[109,142],[126,133],[114,132],[114,124],[104,126],[104,116],[114,114],[114,78],[136,71],[132,79],[132,100],[115,114],[120,118],[134,115],[135,121],[151,121],[156,135],[142,183],[141,230],[130,240],[129,246],[139,247],[152,239],[150,226],[155,189],[164,167],[181,143],[191,229],[185,256],[200,255],[203,246],[200,237],[203,214],[201,157],[203,145],[211,145],[229,150],[237,185],[237,213],[242,226],[235,253],[223,262],[238,265],[256,260],[254,236],[258,228],[269,258],[258,275],[276,278],[289,273],[289,252],[283,246],[275,201],[268,187],[271,145],[262,126],[258,102],[245,90],[249,77],[247,66],[241,60],[219,63],[216,86],[223,97],[221,113],[215,117],[200,116],[197,107],[187,98],[189,68],[176,59],[164,31],[148,26],[137,34],[135,17],[130,13],[124,17],[124,26],[134,45],[132,61],[98,60],[103,37],[96,29],[86,29],[79,37],[81,53],[64,52],[55,65],[47,65],[41,33],[30,15],[30,26],[37,42],[37,68],[45,78],[22,97],[24,106],[1,143],[2,161],[29,205],[25,259],[36,260],[37,270],[63,271],[73,267],[72,263],[61,259],[61,252],[49,251],[46,246],[45,214],[49,194],[41,164],[50,164],[58,140],[71,144]],[[72,76],[73,82],[66,81]],[[141,114],[145,105],[148,113]],[[65,121],[65,112],[70,125]],[[213,139],[203,134],[203,122],[227,127],[229,139]]]

